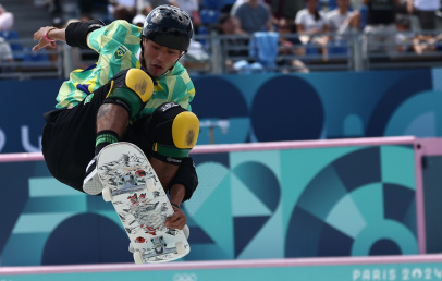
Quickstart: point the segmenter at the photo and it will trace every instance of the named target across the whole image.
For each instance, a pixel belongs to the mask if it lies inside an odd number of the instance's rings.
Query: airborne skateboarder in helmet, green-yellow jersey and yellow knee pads
[[[60,182],[91,195],[101,193],[96,157],[109,144],[125,140],[140,147],[158,174],[175,213],[168,228],[183,229],[180,204],[198,185],[188,152],[199,123],[191,112],[194,85],[179,59],[194,30],[183,10],[160,5],[144,27],[125,21],[75,22],[46,26],[34,34],[33,51],[63,41],[99,53],[97,63],[70,74],[57,96],[58,108],[45,114],[42,154]]]

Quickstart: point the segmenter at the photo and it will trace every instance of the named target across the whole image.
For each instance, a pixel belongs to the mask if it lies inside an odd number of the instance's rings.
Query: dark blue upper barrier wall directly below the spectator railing
[[[201,121],[228,120],[217,144],[442,136],[442,70],[195,76]],[[61,81],[0,81],[0,151],[38,151]],[[198,144],[210,142],[202,127]]]

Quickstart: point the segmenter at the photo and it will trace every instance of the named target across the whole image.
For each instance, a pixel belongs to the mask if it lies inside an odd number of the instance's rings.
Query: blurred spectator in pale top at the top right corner
[[[441,9],[440,0],[407,0],[407,11],[417,15],[422,30],[435,29],[435,12],[439,9]]]

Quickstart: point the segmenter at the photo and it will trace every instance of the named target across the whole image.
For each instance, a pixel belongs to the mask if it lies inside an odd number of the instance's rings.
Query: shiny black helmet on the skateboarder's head
[[[157,7],[147,15],[142,36],[161,46],[187,51],[194,36],[194,26],[186,12],[164,4]]]

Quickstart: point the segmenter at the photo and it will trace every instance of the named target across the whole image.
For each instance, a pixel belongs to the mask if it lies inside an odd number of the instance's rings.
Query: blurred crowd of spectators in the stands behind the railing
[[[46,0],[53,25],[65,26],[70,21],[99,17],[105,23],[125,20],[143,26],[146,15],[160,4],[176,5],[192,17],[197,35],[217,33],[238,35],[224,45],[229,48],[226,68],[253,70],[281,66],[308,72],[308,62],[299,59],[312,53],[322,61],[330,53],[345,52],[348,34],[369,36],[364,46],[371,52],[423,53],[439,49],[438,14],[441,0],[72,0],[75,13],[66,13],[61,0]],[[415,24],[413,19],[415,19]],[[13,14],[0,5],[0,32],[13,29]],[[273,35],[277,36],[273,36]],[[262,48],[274,41],[273,48]],[[250,49],[257,46],[257,51]],[[11,50],[0,37],[2,61],[11,60]],[[197,40],[192,50],[202,50]],[[224,46],[225,47],[225,46]],[[265,52],[258,50],[266,49]],[[8,54],[9,52],[9,54]],[[285,54],[286,59],[279,54]],[[290,56],[288,56],[290,54]],[[254,57],[250,58],[250,57]],[[248,57],[248,59],[244,59]],[[259,60],[272,58],[271,61]],[[238,58],[235,60],[235,58]]]

